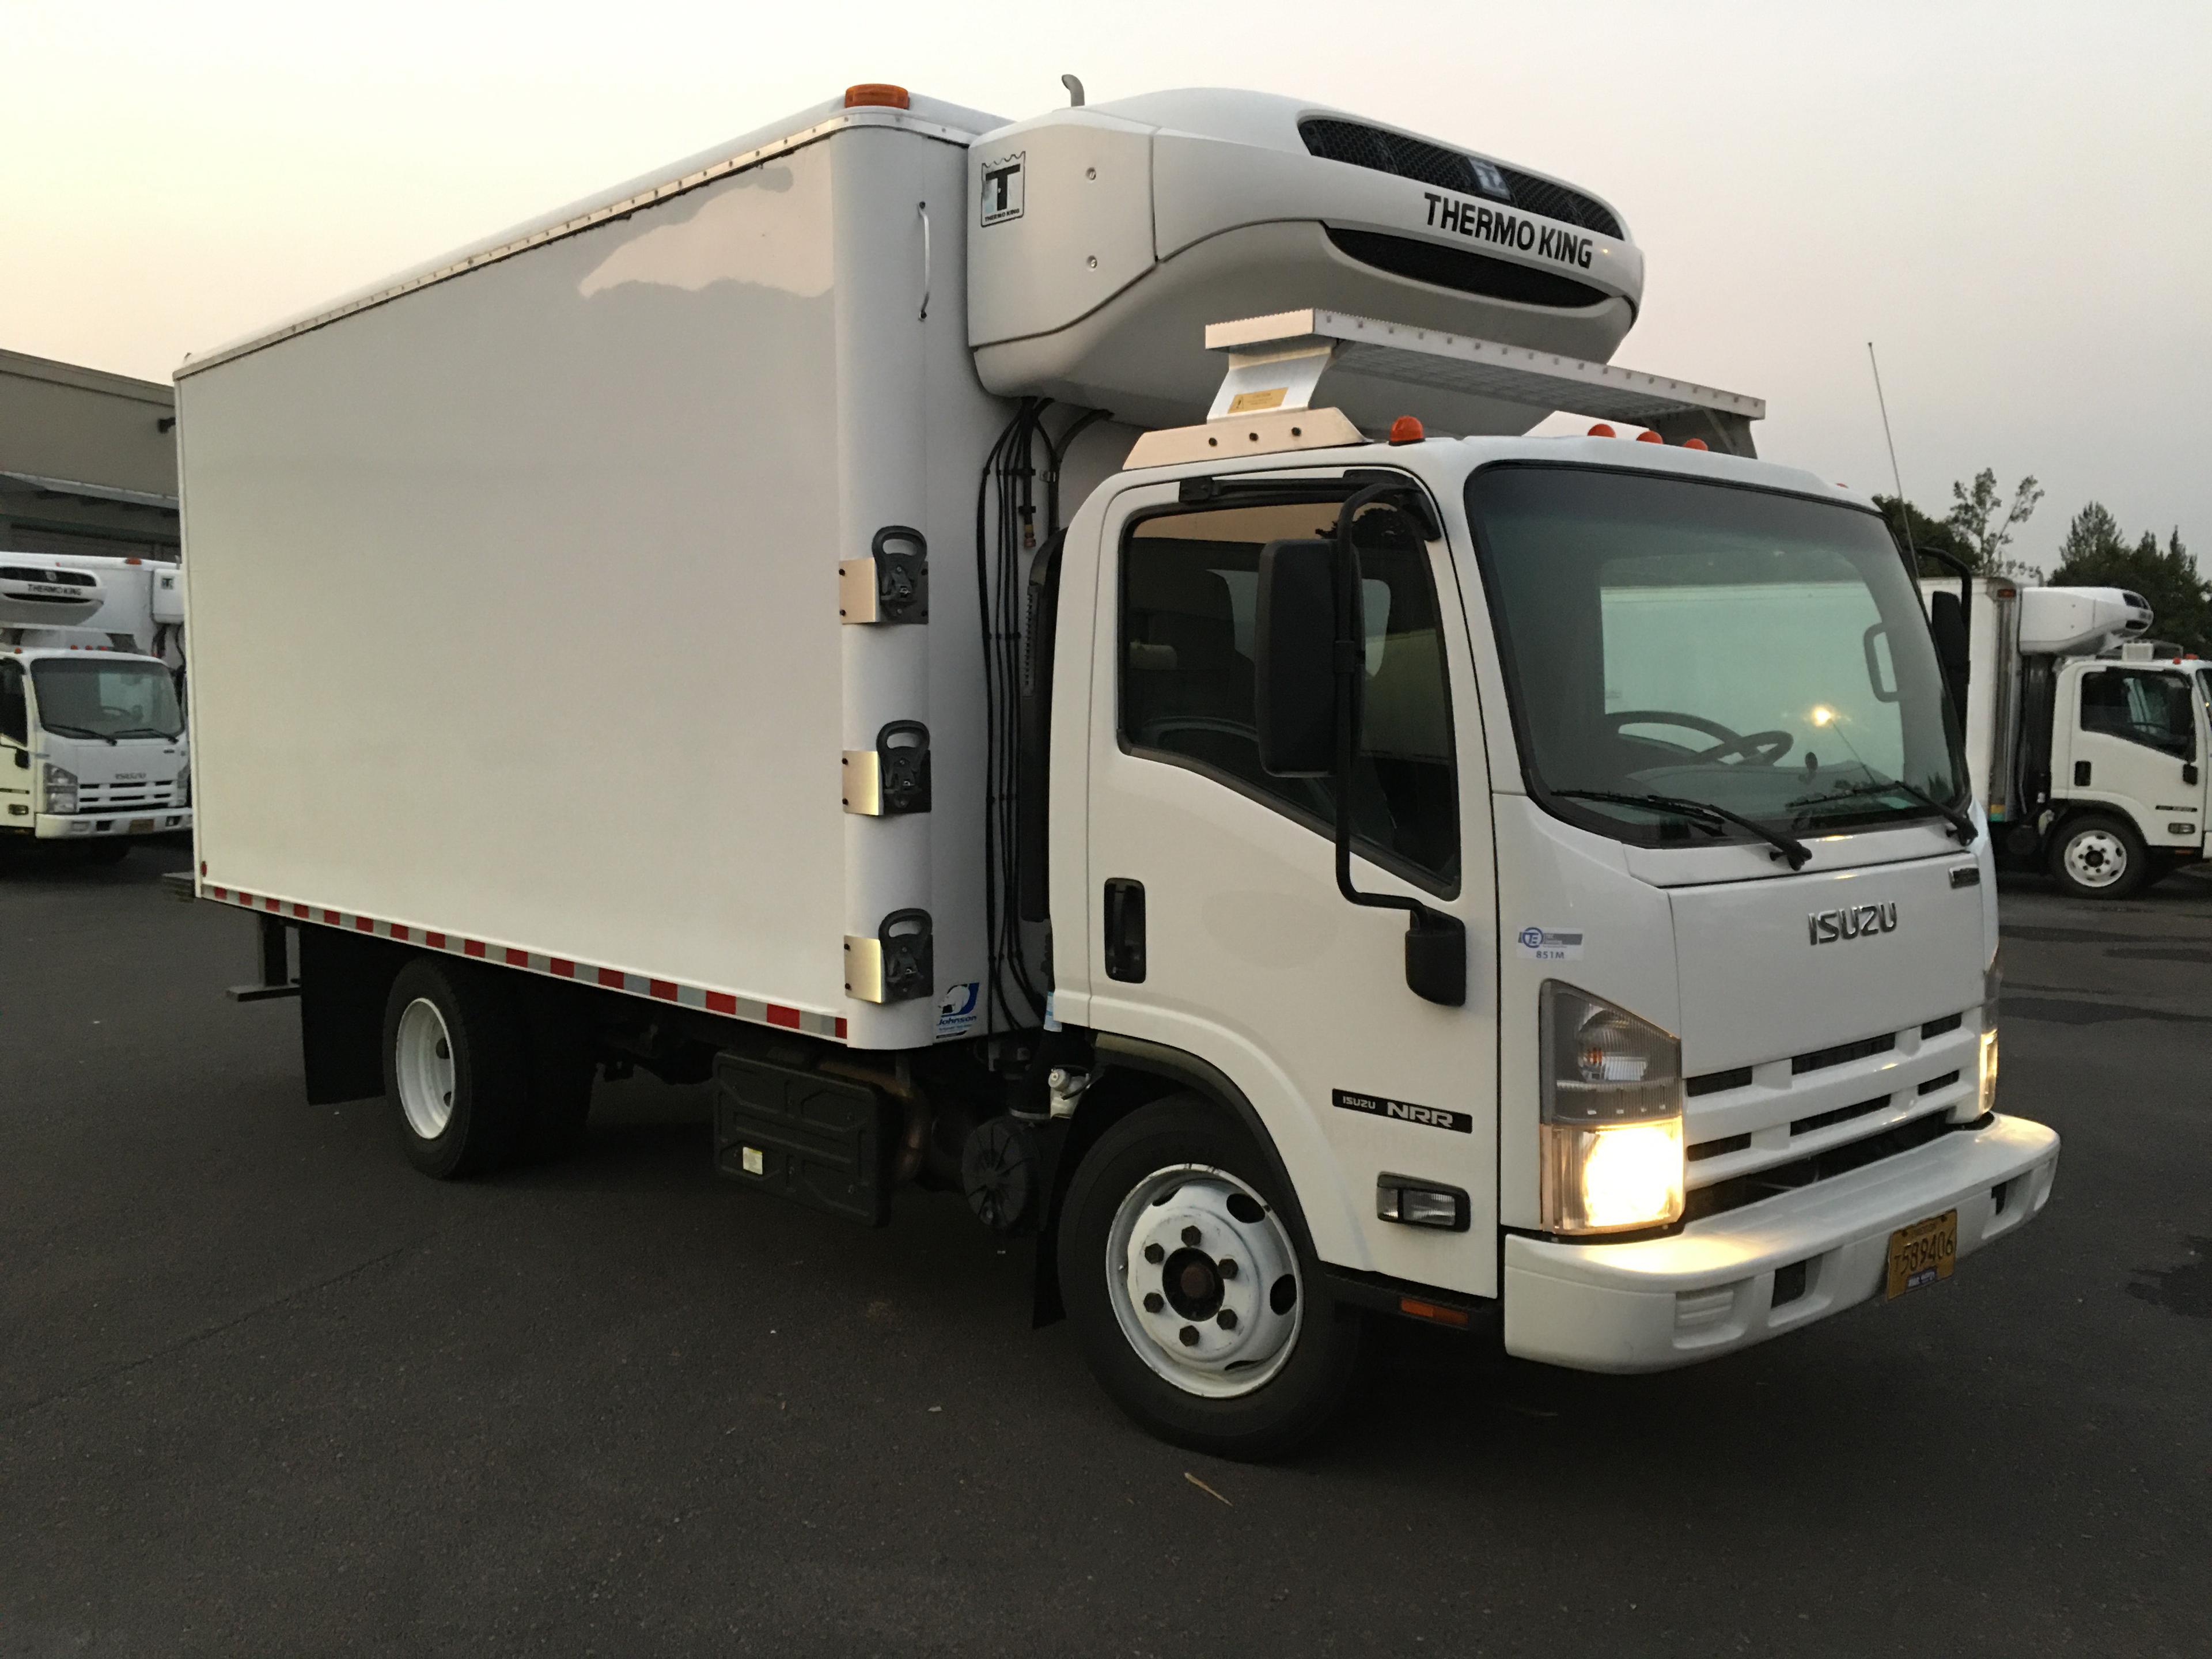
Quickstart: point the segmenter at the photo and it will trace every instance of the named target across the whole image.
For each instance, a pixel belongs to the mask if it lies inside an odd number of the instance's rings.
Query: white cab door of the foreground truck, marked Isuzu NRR
[[[1498,1000],[1489,779],[1442,542],[1363,509],[1354,883],[1458,916],[1464,1006],[1407,989],[1405,914],[1336,889],[1334,785],[1259,765],[1261,549],[1325,535],[1349,487],[1210,502],[1135,487],[1097,546],[1088,1024],[1223,1073],[1265,1124],[1323,1261],[1495,1294]],[[1057,929],[1055,929],[1057,933]],[[1378,1179],[1467,1194],[1467,1228],[1378,1217]]]

